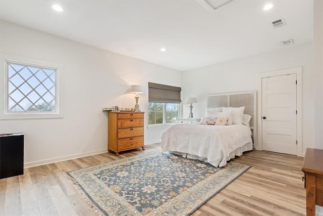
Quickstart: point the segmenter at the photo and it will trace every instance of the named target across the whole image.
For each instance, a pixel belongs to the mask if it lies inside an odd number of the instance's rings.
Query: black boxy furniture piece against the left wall
[[[24,174],[24,134],[0,134],[0,179]]]

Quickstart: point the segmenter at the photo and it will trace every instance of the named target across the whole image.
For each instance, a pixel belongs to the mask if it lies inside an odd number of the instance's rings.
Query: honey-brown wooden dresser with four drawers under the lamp
[[[108,112],[107,151],[115,152],[144,147],[144,112]]]

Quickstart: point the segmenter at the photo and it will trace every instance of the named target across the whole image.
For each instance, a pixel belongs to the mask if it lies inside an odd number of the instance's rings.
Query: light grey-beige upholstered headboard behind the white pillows
[[[207,95],[207,107],[242,107],[244,113],[252,116],[250,128],[253,140],[257,141],[257,94],[256,92],[238,92]]]

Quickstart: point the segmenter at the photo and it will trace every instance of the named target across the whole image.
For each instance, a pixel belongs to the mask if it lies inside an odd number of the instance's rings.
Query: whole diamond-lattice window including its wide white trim
[[[10,57],[2,54],[1,118],[51,118],[63,117],[62,88],[59,81],[62,68],[52,63]]]

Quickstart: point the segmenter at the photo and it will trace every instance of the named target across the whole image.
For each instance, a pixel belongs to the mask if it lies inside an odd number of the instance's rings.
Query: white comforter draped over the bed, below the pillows
[[[243,124],[175,124],[161,136],[161,151],[196,155],[221,167],[231,152],[250,142],[251,130]]]

